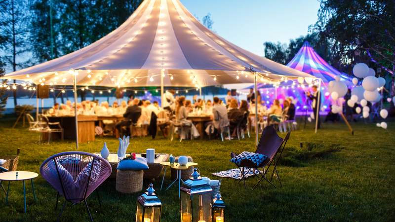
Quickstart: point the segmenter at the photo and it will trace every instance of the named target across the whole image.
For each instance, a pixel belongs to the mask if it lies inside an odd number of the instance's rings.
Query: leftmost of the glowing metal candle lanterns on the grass
[[[137,199],[136,222],[160,222],[162,203],[154,192],[150,184],[147,192]]]

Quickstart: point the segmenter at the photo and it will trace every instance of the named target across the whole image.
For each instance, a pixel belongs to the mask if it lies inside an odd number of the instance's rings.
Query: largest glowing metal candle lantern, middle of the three
[[[211,222],[212,188],[194,169],[181,186],[181,222]]]

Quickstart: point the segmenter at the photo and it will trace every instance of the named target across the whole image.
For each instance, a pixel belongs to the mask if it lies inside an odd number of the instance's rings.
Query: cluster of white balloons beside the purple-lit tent
[[[381,100],[381,95],[379,93],[379,88],[386,84],[386,80],[383,77],[376,77],[376,72],[369,68],[364,63],[358,63],[353,68],[353,73],[356,77],[362,78],[362,85],[358,85],[359,80],[353,78],[353,84],[356,87],[351,91],[351,99],[347,102],[347,105],[354,107],[356,103],[359,103],[362,107],[356,108],[356,113],[362,112],[363,118],[369,117],[370,108],[367,106],[367,102],[376,103]],[[395,98],[393,98],[395,103]],[[381,110],[380,116],[385,119],[388,116],[387,110]],[[387,129],[387,123],[377,123],[378,127]]]

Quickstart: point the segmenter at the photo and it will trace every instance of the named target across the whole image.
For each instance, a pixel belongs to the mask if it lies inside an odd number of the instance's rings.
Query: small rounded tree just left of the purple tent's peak
[[[289,50],[286,44],[280,42],[273,43],[267,41],[263,43],[265,46],[265,57],[277,63],[286,64],[289,57]]]

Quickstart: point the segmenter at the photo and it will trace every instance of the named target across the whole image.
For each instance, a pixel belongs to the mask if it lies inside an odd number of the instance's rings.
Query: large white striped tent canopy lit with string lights
[[[72,85],[207,86],[314,77],[248,52],[208,30],[179,0],[144,0],[116,30],[78,51],[3,78]],[[247,74],[247,77],[245,76]],[[260,77],[260,78],[261,78]],[[215,79],[215,80],[214,80]]]

